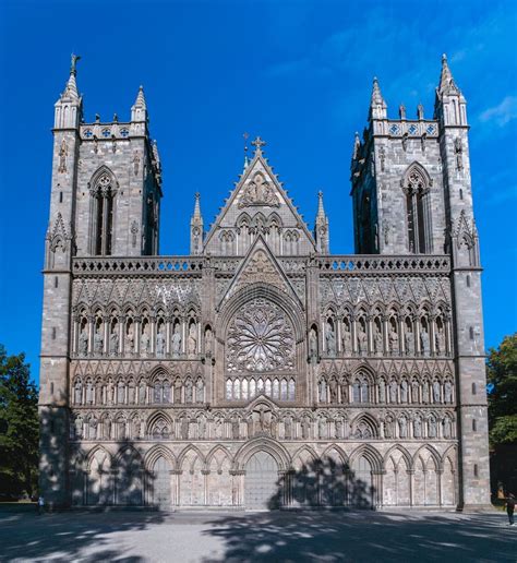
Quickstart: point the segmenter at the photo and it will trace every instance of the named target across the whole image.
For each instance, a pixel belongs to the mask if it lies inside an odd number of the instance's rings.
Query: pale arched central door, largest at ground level
[[[278,464],[267,452],[253,454],[245,465],[244,505],[264,511],[278,504]]]

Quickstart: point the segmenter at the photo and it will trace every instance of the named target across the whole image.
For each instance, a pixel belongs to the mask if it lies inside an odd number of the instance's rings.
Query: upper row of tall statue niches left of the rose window
[[[172,358],[194,358],[201,352],[199,330],[195,323],[191,323],[188,330],[187,338],[183,339],[182,331],[179,323],[173,327],[170,345],[167,346],[167,331],[161,324],[157,331],[153,342],[151,325],[146,324],[141,331],[140,338],[135,338],[133,325],[130,325],[125,332],[123,346],[120,342],[117,325],[111,327],[108,339],[105,343],[103,324],[98,324],[94,328],[92,346],[89,346],[87,325],[81,328],[79,335],[77,351],[80,356],[119,356],[119,355],[140,355],[143,357],[156,356]],[[213,334],[211,327],[205,330],[204,334],[204,354],[212,355]]]

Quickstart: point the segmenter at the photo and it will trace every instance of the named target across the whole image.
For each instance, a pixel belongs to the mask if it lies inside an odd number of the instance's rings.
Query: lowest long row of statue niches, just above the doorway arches
[[[151,426],[139,417],[111,419],[108,416],[76,416],[70,434],[75,440],[247,440],[267,435],[278,440],[396,440],[396,439],[453,439],[454,420],[449,414],[438,416],[387,415],[381,421],[348,418],[284,417],[281,420],[268,411],[253,411],[247,418],[237,416],[196,418],[181,417],[170,420],[158,418]]]

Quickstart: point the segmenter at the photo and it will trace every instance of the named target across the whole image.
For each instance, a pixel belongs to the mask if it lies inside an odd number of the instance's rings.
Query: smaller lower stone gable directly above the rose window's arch
[[[257,237],[249,250],[228,290],[223,296],[220,303],[229,299],[239,289],[256,283],[269,284],[276,287],[302,307],[297,292],[262,236]]]

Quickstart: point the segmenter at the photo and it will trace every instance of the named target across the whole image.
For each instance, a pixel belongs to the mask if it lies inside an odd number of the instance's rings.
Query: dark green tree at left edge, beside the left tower
[[[33,495],[38,467],[38,393],[25,355],[0,345],[0,494]]]

